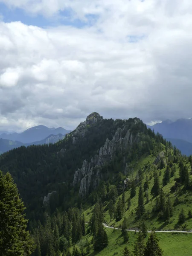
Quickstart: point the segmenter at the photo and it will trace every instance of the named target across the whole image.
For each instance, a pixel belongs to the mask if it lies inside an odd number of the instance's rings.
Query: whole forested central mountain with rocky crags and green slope
[[[56,244],[61,239],[69,255],[73,244],[86,239],[86,232],[93,253],[97,233],[104,232],[101,224],[121,228],[124,218],[126,229],[139,230],[145,223],[148,230],[191,230],[191,166],[191,157],[183,157],[140,119],[103,119],[98,113],[87,116],[58,143],[20,147],[0,156],[0,169],[9,171],[17,183],[42,256],[48,250],[59,255]],[[109,243],[116,239],[107,255],[125,244],[133,248],[134,233],[125,242],[118,232],[113,238],[107,230]],[[171,239],[166,233],[158,236]],[[178,237],[184,246],[190,234],[186,240],[183,234]],[[163,255],[170,253],[168,244]]]

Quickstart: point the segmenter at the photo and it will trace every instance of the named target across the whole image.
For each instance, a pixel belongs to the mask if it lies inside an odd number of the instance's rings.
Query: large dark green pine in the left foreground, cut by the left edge
[[[26,231],[24,205],[9,173],[0,171],[0,255],[31,255],[35,244]]]

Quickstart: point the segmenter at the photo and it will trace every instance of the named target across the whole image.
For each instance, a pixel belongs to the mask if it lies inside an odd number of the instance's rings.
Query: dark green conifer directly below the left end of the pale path
[[[108,236],[102,224],[99,224],[98,232],[94,238],[94,250],[99,251],[108,245]]]

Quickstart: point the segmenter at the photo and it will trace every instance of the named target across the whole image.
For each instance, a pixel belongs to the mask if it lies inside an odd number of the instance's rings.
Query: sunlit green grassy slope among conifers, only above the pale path
[[[186,221],[184,224],[177,224],[178,222],[178,215],[180,212],[180,209],[183,208],[185,215],[187,217],[187,213],[189,209],[192,210],[192,191],[183,191],[183,186],[178,189],[177,192],[171,192],[170,189],[171,187],[175,184],[175,178],[179,177],[179,168],[178,165],[176,164],[177,171],[175,172],[174,177],[171,178],[171,181],[169,184],[163,187],[163,191],[166,195],[166,199],[169,196],[170,200],[172,202],[172,205],[174,204],[175,198],[178,197],[180,203],[177,206],[173,206],[173,216],[170,218],[169,223],[164,223],[163,220],[160,220],[157,216],[158,213],[155,213],[153,215],[152,209],[155,206],[155,199],[153,196],[150,194],[151,188],[153,186],[153,162],[154,162],[155,157],[153,156],[148,156],[140,160],[137,164],[137,166],[134,169],[134,176],[137,175],[137,169],[138,167],[142,167],[145,163],[148,163],[150,166],[148,169],[145,170],[143,173],[143,182],[145,181],[146,175],[149,177],[149,189],[148,189],[148,195],[149,195],[149,203],[145,204],[145,221],[148,226],[148,230],[192,230],[192,219],[186,218]],[[162,170],[158,170],[159,173],[159,179],[160,179],[160,184],[162,184],[163,180],[163,174],[165,172],[165,168]],[[190,175],[191,176],[191,175]],[[130,229],[139,229],[140,228],[140,220],[135,220],[135,211],[138,206],[138,193],[139,193],[139,187],[137,186],[137,193],[134,198],[131,199],[131,207],[129,210],[126,210],[124,213],[124,216],[128,218],[128,225]],[[119,196],[121,197],[121,195]],[[130,189],[128,191],[125,191],[125,205],[127,207],[127,201],[128,198],[130,197]],[[146,199],[145,199],[146,200]],[[118,201],[118,199],[117,199]],[[116,202],[117,202],[116,201]],[[85,218],[86,221],[89,221],[91,212],[92,212],[93,207],[87,209],[85,211]],[[107,209],[107,205],[105,206],[105,209]],[[116,222],[115,219],[113,218],[110,221],[110,215],[108,210],[105,211],[105,222],[108,224],[108,226],[113,226],[113,227],[121,227],[122,221]]]

